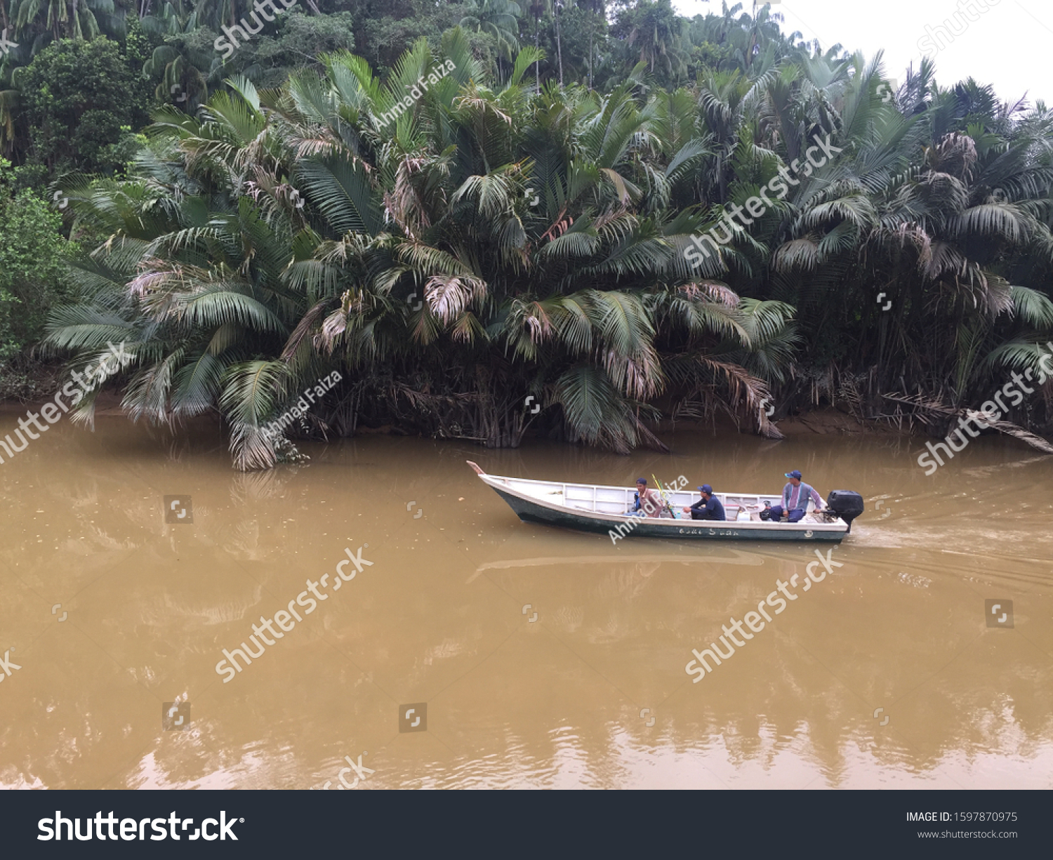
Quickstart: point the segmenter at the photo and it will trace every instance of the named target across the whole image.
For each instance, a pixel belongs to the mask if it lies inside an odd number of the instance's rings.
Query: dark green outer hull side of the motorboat
[[[490,483],[488,481],[488,483]],[[510,493],[490,483],[523,522],[556,525],[578,532],[611,535],[612,538],[668,538],[677,540],[780,540],[840,543],[848,526],[817,526],[812,523],[710,522],[673,520],[655,517],[601,517],[589,512],[575,512],[548,506],[521,495]]]

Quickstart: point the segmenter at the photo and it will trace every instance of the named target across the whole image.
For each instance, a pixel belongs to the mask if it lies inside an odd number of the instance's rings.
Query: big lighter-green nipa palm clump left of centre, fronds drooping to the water
[[[456,31],[442,56],[455,71],[439,77],[422,41],[382,84],[337,54],[280,92],[235,80],[197,118],[160,111],[134,178],[71,195],[111,240],[78,265],[92,298],[55,315],[47,344],[86,362],[124,340],[132,417],[217,409],[241,467],[281,455],[267,422],[334,366],[346,383],[309,432],[372,409],[518,444],[533,393],[565,438],[628,452],[661,447],[645,420],[663,394],[756,412],[789,308],[687,271],[700,219],[653,211],[645,188],[682,165],[654,161],[634,85],[532,94],[540,53],[523,49],[491,88]]]

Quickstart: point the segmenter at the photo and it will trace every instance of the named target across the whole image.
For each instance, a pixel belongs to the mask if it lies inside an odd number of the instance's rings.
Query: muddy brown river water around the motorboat
[[[669,441],[362,437],[241,475],[214,428],[61,421],[0,464],[0,785],[1053,787],[1053,457],[984,437],[927,477],[917,439]],[[815,546],[530,525],[465,459],[742,493],[799,468],[867,512],[695,682]]]

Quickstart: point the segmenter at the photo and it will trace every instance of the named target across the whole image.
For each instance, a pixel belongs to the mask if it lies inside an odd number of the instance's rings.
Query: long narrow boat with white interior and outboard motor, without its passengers
[[[678,538],[688,540],[791,540],[840,543],[851,528],[858,509],[810,512],[795,523],[772,523],[760,519],[764,502],[780,504],[779,496],[751,493],[715,493],[728,520],[692,520],[680,508],[698,501],[698,494],[688,491],[667,492],[670,505],[681,519],[639,517],[628,514],[634,504],[634,487],[574,484],[557,481],[532,481],[488,475],[476,463],[465,461],[480,480],[490,486],[523,522],[559,525],[579,532],[609,534],[612,539],[625,537]],[[858,494],[835,491],[854,497]],[[810,505],[811,506],[811,505]],[[848,507],[852,507],[850,504]],[[668,515],[667,515],[668,516]],[[737,519],[741,516],[742,519]],[[749,516],[749,519],[746,517]]]

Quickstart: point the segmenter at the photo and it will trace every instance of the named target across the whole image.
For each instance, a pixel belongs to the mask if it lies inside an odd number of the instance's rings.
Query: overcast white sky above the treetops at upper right
[[[687,16],[720,14],[720,0],[673,0],[673,6]],[[742,9],[753,14],[751,0]],[[1027,93],[1032,104],[1039,99],[1053,102],[1049,0],[784,0],[773,3],[772,12],[783,16],[784,33],[800,31],[809,41],[818,39],[823,51],[839,42],[869,60],[883,49],[888,78],[901,81],[908,64],[913,62],[916,69],[925,54],[935,60],[940,86],[972,76],[981,84],[994,84],[1000,101],[1015,101]],[[919,47],[918,41],[938,33],[940,25],[951,41]]]

